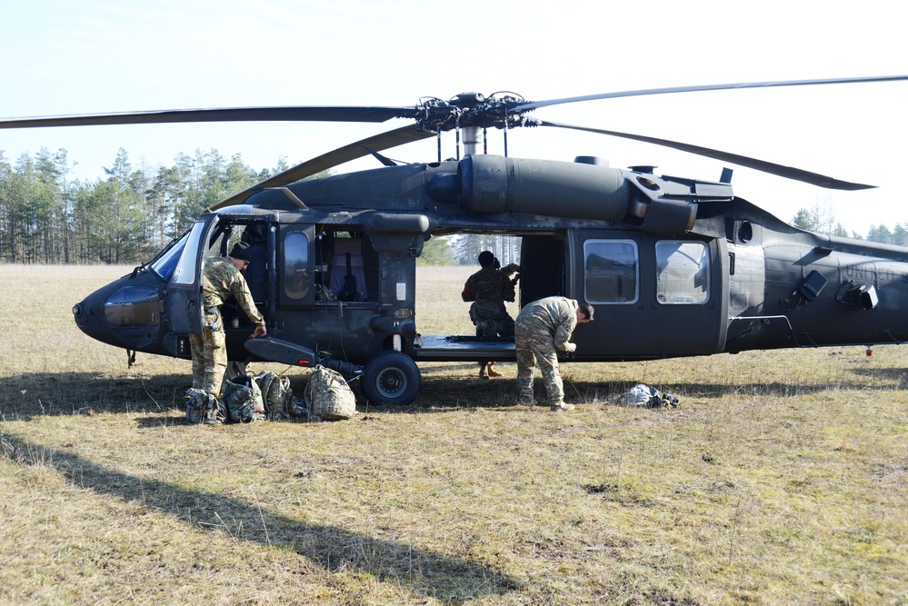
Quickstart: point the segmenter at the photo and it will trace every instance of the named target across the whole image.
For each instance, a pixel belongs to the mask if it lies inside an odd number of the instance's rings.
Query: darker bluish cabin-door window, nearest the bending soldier
[[[584,243],[587,303],[635,303],[639,282],[634,241],[587,240]]]

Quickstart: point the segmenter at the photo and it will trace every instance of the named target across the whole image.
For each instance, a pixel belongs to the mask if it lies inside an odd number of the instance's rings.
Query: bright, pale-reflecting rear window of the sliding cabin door
[[[669,305],[709,300],[709,253],[702,242],[656,243],[656,301]]]

